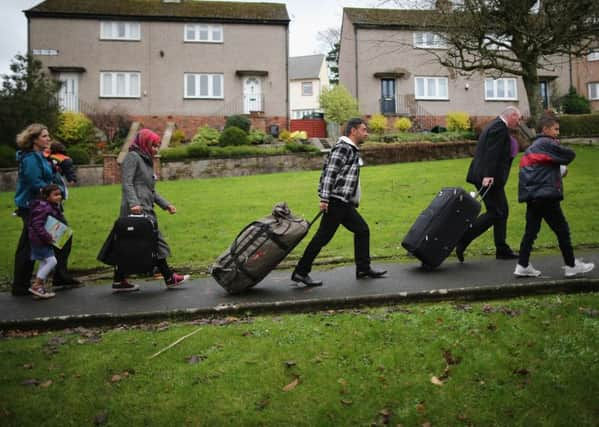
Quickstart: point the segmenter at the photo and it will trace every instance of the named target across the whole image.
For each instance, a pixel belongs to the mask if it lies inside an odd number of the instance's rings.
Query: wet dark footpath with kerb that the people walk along
[[[322,287],[293,286],[288,270],[275,270],[250,291],[228,295],[211,277],[192,278],[181,288],[167,290],[159,280],[137,280],[139,292],[112,294],[109,284],[57,292],[56,298],[0,294],[0,329],[60,328],[118,324],[158,319],[192,319],[211,315],[310,311],[432,300],[493,299],[534,293],[599,291],[599,251],[577,252],[593,261],[595,270],[566,279],[561,256],[533,256],[536,278],[515,278],[516,261],[450,257],[433,271],[414,260],[407,264],[375,263],[387,277],[356,280],[353,266],[316,270]]]

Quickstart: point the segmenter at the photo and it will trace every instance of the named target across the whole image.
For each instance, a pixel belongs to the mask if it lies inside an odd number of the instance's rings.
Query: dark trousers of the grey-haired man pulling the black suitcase
[[[482,187],[477,185],[476,188],[478,191],[481,191]],[[472,227],[466,231],[464,236],[462,236],[460,243],[466,247],[490,227],[493,227],[495,249],[498,252],[509,250],[509,246],[505,241],[509,207],[504,187],[491,186],[485,195],[483,202],[486,208],[485,213],[479,215],[479,217],[474,220]]]

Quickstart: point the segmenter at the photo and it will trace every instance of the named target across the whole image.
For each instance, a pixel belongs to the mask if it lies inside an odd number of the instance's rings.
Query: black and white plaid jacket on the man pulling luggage
[[[328,202],[335,197],[348,203],[356,194],[360,178],[360,151],[341,137],[324,162],[318,195]]]

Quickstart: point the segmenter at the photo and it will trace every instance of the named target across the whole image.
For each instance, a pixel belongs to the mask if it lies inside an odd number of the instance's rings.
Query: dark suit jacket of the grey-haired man
[[[483,130],[466,181],[480,187],[486,176],[494,178],[493,185],[504,187],[512,166],[510,132],[499,117]]]

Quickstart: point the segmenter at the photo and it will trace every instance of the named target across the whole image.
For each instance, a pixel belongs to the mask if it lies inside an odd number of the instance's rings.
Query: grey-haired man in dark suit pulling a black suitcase
[[[522,114],[516,107],[507,107],[485,127],[478,144],[474,159],[470,163],[466,180],[474,184],[483,194],[486,212],[480,215],[466,231],[456,245],[456,255],[464,262],[464,251],[474,239],[493,226],[495,256],[497,259],[515,259],[518,254],[506,243],[508,203],[505,196],[505,184],[510,174],[512,159],[517,154],[515,140],[510,137],[509,129],[518,127]],[[486,188],[489,187],[489,188]]]

